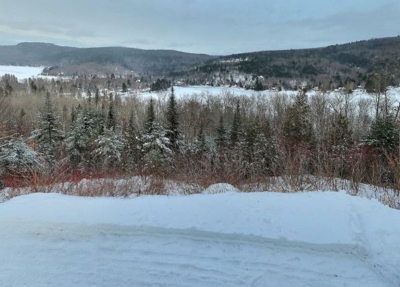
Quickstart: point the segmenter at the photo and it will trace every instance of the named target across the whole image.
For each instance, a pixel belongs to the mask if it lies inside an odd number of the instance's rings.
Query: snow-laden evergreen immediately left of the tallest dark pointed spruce
[[[144,159],[147,167],[161,167],[172,155],[170,139],[166,135],[165,128],[155,120],[154,103],[152,98],[147,110],[147,121],[142,135]]]

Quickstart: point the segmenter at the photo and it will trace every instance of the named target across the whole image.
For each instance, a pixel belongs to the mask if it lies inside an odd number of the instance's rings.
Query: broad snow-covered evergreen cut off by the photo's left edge
[[[0,146],[0,174],[24,174],[42,169],[38,152],[28,146],[22,138],[8,139]]]

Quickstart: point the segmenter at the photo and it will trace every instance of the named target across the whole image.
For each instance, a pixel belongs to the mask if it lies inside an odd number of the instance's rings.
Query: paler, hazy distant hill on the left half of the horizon
[[[53,66],[51,72],[110,72],[116,68],[154,74],[169,73],[181,66],[202,63],[213,56],[172,50],[123,47],[73,48],[46,43],[0,46],[0,64]]]

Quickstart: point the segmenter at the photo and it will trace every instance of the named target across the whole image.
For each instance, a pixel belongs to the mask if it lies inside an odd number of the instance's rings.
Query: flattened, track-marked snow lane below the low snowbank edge
[[[0,238],[18,238],[0,239],[0,282],[11,286],[382,286],[357,245],[148,226],[1,226]]]

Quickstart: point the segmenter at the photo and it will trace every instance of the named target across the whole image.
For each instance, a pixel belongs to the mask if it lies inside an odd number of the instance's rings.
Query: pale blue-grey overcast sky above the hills
[[[393,0],[12,0],[0,44],[129,46],[226,55],[400,34]]]

